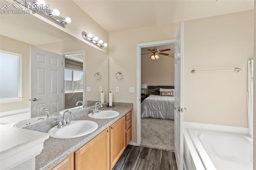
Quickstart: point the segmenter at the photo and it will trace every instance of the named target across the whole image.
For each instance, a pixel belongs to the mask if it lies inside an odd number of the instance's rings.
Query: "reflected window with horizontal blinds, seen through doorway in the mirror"
[[[83,91],[84,73],[80,70],[65,69],[65,92]]]

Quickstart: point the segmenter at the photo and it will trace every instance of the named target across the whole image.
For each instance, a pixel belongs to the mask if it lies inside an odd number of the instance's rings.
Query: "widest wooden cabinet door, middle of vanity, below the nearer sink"
[[[75,170],[109,170],[109,128],[75,152]]]

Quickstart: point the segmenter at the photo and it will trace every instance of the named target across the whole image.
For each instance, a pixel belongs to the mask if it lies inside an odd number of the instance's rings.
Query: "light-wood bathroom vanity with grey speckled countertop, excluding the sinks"
[[[90,118],[88,110],[79,111],[82,116],[74,121],[94,121],[98,124],[98,128],[90,134],[77,138],[50,137],[45,141],[41,154],[36,156],[36,170],[63,168],[109,170],[114,167],[132,138],[132,105],[102,108],[101,110],[120,113],[117,117],[109,119]]]

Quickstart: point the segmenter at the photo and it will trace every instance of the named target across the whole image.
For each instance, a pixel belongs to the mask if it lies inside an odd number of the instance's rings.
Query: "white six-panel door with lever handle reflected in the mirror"
[[[35,47],[30,47],[30,99],[31,117],[44,107],[49,113],[64,109],[63,56]]]

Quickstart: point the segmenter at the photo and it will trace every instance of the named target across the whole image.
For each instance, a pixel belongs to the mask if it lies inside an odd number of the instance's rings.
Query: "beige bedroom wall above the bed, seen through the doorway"
[[[142,56],[141,83],[174,85],[174,57],[160,55],[158,60],[152,60],[148,56]]]

